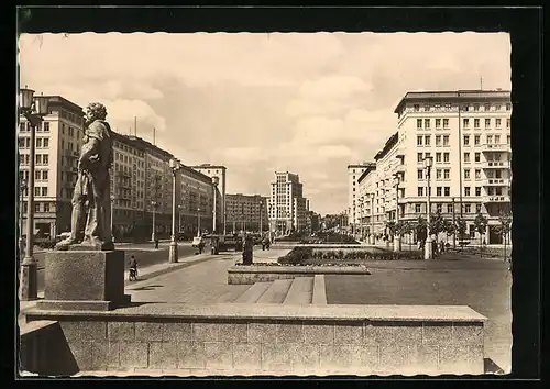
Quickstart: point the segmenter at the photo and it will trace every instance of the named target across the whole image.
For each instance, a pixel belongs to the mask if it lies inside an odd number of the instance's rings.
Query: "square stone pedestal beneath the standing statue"
[[[44,300],[37,301],[38,309],[109,311],[129,302],[123,251],[77,247],[46,253]]]

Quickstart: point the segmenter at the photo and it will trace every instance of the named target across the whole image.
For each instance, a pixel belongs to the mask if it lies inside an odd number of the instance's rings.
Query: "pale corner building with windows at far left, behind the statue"
[[[50,113],[36,127],[34,226],[41,236],[56,236],[70,230],[70,200],[82,145],[82,109],[61,96],[48,97]],[[18,129],[19,176],[29,181],[30,127],[20,116]],[[28,189],[20,198],[20,218],[26,231]]]

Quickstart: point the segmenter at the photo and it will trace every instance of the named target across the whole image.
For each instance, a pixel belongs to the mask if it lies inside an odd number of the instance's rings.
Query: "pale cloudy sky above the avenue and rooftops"
[[[346,166],[396,131],[407,91],[509,89],[508,34],[42,34],[20,40],[20,84],[153,140],[186,165],[228,168],[228,192],[300,176],[311,209],[346,207]],[[132,129],[132,130],[131,130]]]

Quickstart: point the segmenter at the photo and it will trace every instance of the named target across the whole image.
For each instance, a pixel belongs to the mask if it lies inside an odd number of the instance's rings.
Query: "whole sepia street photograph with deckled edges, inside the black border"
[[[20,375],[509,374],[512,49],[22,32]]]

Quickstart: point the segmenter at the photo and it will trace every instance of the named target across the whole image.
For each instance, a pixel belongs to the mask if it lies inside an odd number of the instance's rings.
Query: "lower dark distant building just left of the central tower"
[[[262,231],[270,229],[267,219],[267,197],[261,194],[227,194],[226,197],[228,230]],[[260,222],[262,220],[262,222]]]

